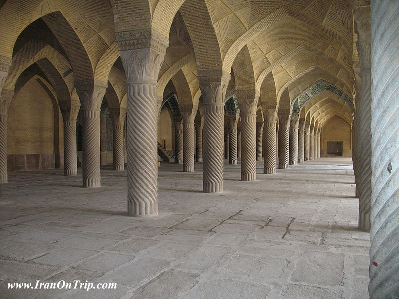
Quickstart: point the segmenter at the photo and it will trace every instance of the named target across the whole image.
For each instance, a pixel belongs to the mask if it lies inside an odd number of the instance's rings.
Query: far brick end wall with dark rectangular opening
[[[332,117],[324,124],[320,137],[320,156],[327,156],[327,142],[342,141],[342,156],[352,156],[351,127],[340,117]]]

